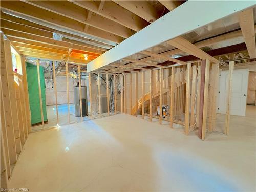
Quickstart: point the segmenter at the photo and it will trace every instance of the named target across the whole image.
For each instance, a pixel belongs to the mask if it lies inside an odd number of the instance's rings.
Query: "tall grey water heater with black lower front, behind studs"
[[[82,116],[88,116],[88,100],[87,100],[87,88],[81,86],[82,96]],[[74,87],[74,105],[75,105],[75,116],[80,117],[80,98],[79,98],[79,86]]]

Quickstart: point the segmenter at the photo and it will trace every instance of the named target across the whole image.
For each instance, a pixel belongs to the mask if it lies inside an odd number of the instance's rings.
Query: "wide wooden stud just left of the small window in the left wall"
[[[4,126],[2,126],[2,130],[5,130],[4,137],[7,140],[8,143],[8,149],[9,149],[9,159],[10,164],[14,164],[17,161],[17,152],[16,152],[16,144],[15,144],[15,133],[14,133],[14,126],[13,126],[13,118],[11,113],[11,100],[10,100],[10,92],[9,92],[9,83],[8,83],[8,73],[6,65],[10,65],[11,63],[6,62],[5,58],[5,49],[4,49],[4,38],[3,33],[0,33],[1,35],[1,126],[4,123]],[[12,65],[11,65],[12,66]],[[5,121],[3,121],[5,120]]]

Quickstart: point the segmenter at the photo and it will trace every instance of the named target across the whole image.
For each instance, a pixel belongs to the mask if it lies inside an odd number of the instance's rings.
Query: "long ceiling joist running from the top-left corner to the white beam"
[[[21,1],[3,1],[1,2],[1,8],[9,10],[15,13],[20,13],[28,17],[36,18],[42,20],[43,22],[48,22],[50,24],[67,28],[69,30],[78,31],[84,33],[84,27],[86,24],[78,22],[74,19],[70,19],[66,16],[62,16],[51,11],[38,8],[36,6],[30,5]],[[32,11],[33,10],[33,11]],[[84,33],[86,35],[86,33]],[[107,39],[112,42],[120,43],[123,37],[114,35],[112,33],[100,30],[98,28],[90,26],[88,28],[87,34],[101,39]],[[100,39],[99,39],[100,41]]]

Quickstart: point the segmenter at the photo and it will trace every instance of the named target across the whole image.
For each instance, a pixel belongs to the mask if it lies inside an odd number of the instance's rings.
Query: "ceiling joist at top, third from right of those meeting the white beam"
[[[112,1],[105,1],[102,10],[99,10],[99,1],[71,1],[85,9],[88,9],[100,16],[113,20],[134,31],[140,31],[150,23],[135,15],[134,13],[122,8]]]

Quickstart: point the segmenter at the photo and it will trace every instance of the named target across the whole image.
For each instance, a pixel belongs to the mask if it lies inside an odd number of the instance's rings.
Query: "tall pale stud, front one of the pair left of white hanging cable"
[[[186,111],[185,111],[185,134],[189,134],[189,108],[190,108],[190,68],[191,63],[187,63],[187,76],[186,76]]]

